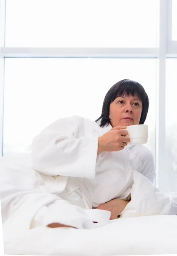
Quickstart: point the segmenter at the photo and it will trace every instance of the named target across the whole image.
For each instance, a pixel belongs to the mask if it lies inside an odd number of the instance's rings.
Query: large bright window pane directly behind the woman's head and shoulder
[[[125,78],[140,82],[149,95],[146,146],[154,153],[155,59],[6,58],[4,154],[30,150],[32,138],[56,119],[96,120],[107,91]]]

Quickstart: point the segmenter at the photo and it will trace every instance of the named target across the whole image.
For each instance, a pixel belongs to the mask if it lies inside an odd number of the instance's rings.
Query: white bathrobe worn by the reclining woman
[[[154,181],[153,156],[143,145],[97,154],[98,137],[111,128],[79,116],[59,119],[34,138],[32,165],[30,158],[2,157],[0,194],[7,244],[52,222],[78,228],[93,228],[93,221],[105,223],[110,212],[92,208],[113,198],[129,198],[134,170]]]

